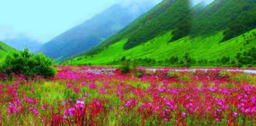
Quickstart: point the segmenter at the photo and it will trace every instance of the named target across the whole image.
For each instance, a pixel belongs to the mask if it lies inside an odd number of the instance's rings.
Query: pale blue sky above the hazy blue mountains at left
[[[40,42],[121,0],[0,0],[0,39],[24,34]]]

